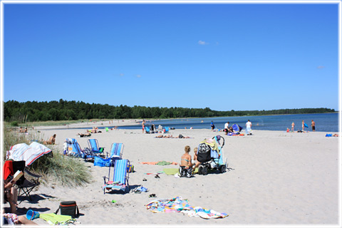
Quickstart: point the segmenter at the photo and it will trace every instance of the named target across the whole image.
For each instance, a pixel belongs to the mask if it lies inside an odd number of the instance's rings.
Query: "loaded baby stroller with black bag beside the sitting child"
[[[221,146],[219,146],[220,140],[223,140]],[[197,152],[197,160],[201,162],[198,167],[199,175],[207,175],[209,169],[219,170],[220,173],[226,172],[227,159],[224,160],[223,146],[224,138],[220,135],[199,143]]]

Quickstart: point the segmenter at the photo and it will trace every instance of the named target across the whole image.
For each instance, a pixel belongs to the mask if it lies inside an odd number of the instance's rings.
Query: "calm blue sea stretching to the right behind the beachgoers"
[[[155,124],[163,127],[175,129],[194,128],[194,129],[210,129],[211,121],[214,121],[216,128],[224,128],[224,123],[229,121],[229,126],[237,123],[246,128],[246,122],[252,122],[252,130],[291,130],[291,123],[294,122],[294,130],[301,130],[301,121],[309,125],[306,130],[311,131],[311,120],[316,123],[316,131],[338,132],[338,113],[320,113],[320,114],[296,114],[296,115],[257,115],[257,116],[235,116],[235,117],[219,117],[219,118],[182,118],[172,120],[153,120],[147,121],[147,125]],[[101,128],[105,128],[101,127]],[[119,129],[141,129],[141,125],[120,126]]]

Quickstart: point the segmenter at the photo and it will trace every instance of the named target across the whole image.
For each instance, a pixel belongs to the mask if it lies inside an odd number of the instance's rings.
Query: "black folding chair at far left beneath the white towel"
[[[16,181],[16,186],[19,190],[18,197],[24,196],[19,203],[21,203],[26,197],[32,201],[30,193],[36,186],[40,185],[39,177],[41,177],[41,175],[36,175],[28,171],[26,169],[25,161],[12,161],[12,164],[14,173],[18,170],[24,173],[24,175]],[[25,174],[27,175],[25,176]]]

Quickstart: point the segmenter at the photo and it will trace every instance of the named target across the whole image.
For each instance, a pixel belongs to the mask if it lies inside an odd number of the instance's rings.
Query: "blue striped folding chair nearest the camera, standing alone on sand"
[[[102,187],[103,194],[105,194],[105,190],[122,190],[125,192],[126,187],[130,187],[128,185],[129,174],[127,172],[127,167],[130,165],[130,161],[127,159],[115,160],[114,162],[114,172],[113,172],[113,180],[110,181],[110,167],[108,177],[103,177],[103,180],[108,180]]]

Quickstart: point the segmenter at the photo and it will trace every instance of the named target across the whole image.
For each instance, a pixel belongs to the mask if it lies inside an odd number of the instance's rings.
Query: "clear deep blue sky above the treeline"
[[[338,4],[5,4],[4,101],[338,110]]]

